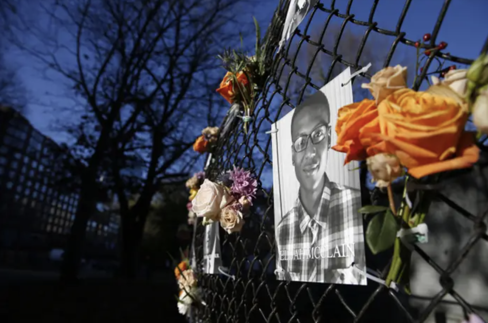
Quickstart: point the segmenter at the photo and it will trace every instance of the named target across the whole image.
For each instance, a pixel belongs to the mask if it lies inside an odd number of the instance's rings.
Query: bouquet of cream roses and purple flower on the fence
[[[251,172],[239,167],[224,172],[216,183],[205,180],[192,200],[192,210],[203,224],[219,221],[227,233],[238,232],[253,204],[258,183]]]

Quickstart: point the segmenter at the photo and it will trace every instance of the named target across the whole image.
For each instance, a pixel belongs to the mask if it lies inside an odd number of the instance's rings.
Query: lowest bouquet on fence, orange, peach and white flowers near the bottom
[[[178,283],[179,294],[176,297],[178,302],[178,311],[182,315],[188,315],[192,304],[206,305],[202,300],[202,291],[198,288],[197,278],[193,269],[190,268],[190,261],[184,253],[181,252],[181,261],[174,269],[174,276]],[[188,250],[187,250],[188,254]]]

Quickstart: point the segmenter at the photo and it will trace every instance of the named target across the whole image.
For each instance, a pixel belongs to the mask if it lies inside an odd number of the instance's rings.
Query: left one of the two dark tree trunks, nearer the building
[[[89,218],[93,215],[97,203],[94,195],[94,192],[97,192],[95,175],[95,172],[86,174],[81,180],[80,198],[76,208],[75,220],[71,226],[71,234],[68,237],[61,265],[60,279],[62,281],[70,282],[78,278],[83,242],[86,236],[86,225]]]

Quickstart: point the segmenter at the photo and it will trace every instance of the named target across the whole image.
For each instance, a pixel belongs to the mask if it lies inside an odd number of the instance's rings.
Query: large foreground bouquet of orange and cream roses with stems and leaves
[[[471,167],[479,158],[476,134],[465,130],[470,113],[478,130],[486,132],[488,114],[488,59],[476,60],[469,70],[452,70],[434,79],[426,91],[407,88],[407,68],[386,67],[363,88],[374,99],[343,106],[335,126],[338,139],[333,150],[346,154],[345,164],[366,161],[376,186],[386,189],[389,206],[369,205],[359,211],[373,218],[366,241],[373,254],[394,246],[386,285],[393,282],[409,290],[413,243],[427,240],[423,224],[431,197],[419,191],[418,181],[440,172]],[[455,75],[455,78],[453,77]],[[483,113],[484,112],[484,113]],[[395,205],[391,182],[405,174],[400,205]],[[413,185],[412,185],[413,184]]]

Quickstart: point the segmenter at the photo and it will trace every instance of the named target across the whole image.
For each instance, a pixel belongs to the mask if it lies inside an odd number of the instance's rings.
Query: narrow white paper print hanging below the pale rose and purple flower
[[[203,240],[203,272],[205,274],[218,274],[218,268],[222,266],[220,255],[219,222],[205,226]]]

